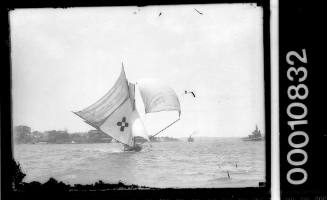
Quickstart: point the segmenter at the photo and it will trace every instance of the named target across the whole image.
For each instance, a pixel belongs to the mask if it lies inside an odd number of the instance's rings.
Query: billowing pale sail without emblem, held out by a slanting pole
[[[178,111],[180,115],[180,103],[172,88],[155,79],[142,80],[138,86],[146,113]]]

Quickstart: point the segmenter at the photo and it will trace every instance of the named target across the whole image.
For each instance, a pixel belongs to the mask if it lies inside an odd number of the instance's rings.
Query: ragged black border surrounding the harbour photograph
[[[268,0],[257,1],[206,1],[206,4],[211,3],[253,3],[263,9],[263,54],[264,54],[264,98],[265,98],[265,158],[266,158],[266,182],[260,183],[258,187],[249,188],[199,188],[199,189],[117,189],[121,185],[108,185],[98,184],[89,189],[67,188],[62,183],[55,180],[47,182],[42,185],[30,185],[29,191],[17,191],[13,189],[13,182],[21,180],[21,174],[17,169],[12,156],[12,114],[11,114],[11,69],[10,69],[10,26],[9,26],[9,12],[18,8],[41,8],[41,7],[54,7],[54,8],[68,8],[68,7],[93,7],[93,6],[148,6],[148,5],[180,5],[180,4],[201,4],[203,2],[182,2],[182,1],[13,1],[9,3],[5,12],[1,12],[1,22],[6,32],[2,38],[1,47],[5,60],[5,67],[1,68],[1,190],[4,198],[8,199],[22,199],[22,198],[44,198],[49,196],[64,197],[64,198],[146,198],[146,199],[185,199],[185,198],[210,198],[210,199],[270,199],[271,189],[271,74],[270,74],[270,4]],[[35,188],[33,189],[33,187]],[[26,188],[25,188],[26,189]]]

